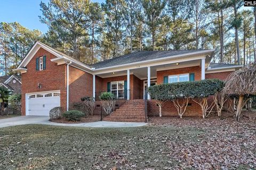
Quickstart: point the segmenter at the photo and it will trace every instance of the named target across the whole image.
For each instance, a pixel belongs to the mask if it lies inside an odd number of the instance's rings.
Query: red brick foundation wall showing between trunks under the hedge
[[[201,107],[193,100],[189,100],[191,106],[187,106],[186,112],[182,116],[202,116]],[[148,115],[159,116],[159,107],[155,100],[148,100]],[[178,111],[172,101],[167,101],[162,106],[162,116],[179,116]]]

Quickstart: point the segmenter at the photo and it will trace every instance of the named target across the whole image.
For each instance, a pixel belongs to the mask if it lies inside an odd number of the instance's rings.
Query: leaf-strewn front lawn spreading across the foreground
[[[255,169],[255,118],[150,118],[140,128],[0,129],[0,169]],[[159,123],[163,122],[163,123]],[[190,122],[190,123],[189,123]]]

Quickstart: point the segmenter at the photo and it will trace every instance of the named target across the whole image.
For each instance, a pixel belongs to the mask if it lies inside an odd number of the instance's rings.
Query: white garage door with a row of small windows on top
[[[26,115],[49,116],[53,107],[60,106],[60,90],[26,94]]]

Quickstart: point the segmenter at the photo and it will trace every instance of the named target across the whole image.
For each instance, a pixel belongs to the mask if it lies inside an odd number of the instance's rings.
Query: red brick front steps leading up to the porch
[[[127,100],[103,121],[112,122],[146,122],[144,100]]]

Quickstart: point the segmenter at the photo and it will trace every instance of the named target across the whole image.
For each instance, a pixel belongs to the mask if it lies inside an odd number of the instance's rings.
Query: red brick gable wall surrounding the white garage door
[[[36,58],[43,55],[46,55],[46,69],[36,71]],[[66,109],[66,64],[57,65],[57,63],[51,62],[51,59],[55,57],[56,56],[54,56],[47,50],[40,48],[35,56],[27,64],[27,72],[21,74],[22,115],[26,114],[25,94],[37,91],[60,90],[60,104],[63,109]],[[37,83],[42,84],[41,89],[38,88]]]

